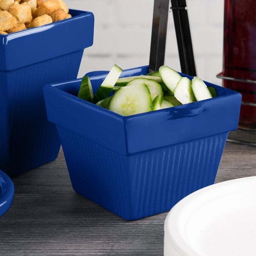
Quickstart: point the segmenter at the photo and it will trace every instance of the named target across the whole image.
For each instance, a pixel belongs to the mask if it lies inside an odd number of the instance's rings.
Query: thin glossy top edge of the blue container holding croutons
[[[92,12],[81,11],[81,10],[76,10],[76,9],[69,9],[69,13],[72,15],[72,17],[69,19],[52,22],[52,23],[49,23],[49,24],[46,24],[43,26],[38,26],[38,27],[30,28],[30,29],[24,29],[21,31],[9,33],[7,35],[0,34],[0,37],[2,37],[2,38],[12,37],[12,39],[14,39],[14,38],[23,36],[24,34],[30,35],[32,32],[38,33],[38,32],[44,31],[46,29],[58,26],[59,24],[68,23],[68,22],[70,22],[70,20],[79,19],[79,17],[85,17],[85,16],[92,15]]]

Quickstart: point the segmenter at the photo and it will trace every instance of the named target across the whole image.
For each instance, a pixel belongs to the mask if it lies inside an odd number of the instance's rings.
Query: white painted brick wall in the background
[[[187,0],[198,76],[221,84],[224,0]],[[148,64],[154,0],[66,0],[70,9],[93,12],[93,46],[85,49],[78,77],[93,70]],[[180,71],[172,13],[166,65]]]

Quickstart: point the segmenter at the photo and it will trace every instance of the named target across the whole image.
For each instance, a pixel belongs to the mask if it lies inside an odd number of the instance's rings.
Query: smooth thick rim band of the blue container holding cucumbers
[[[146,73],[148,66],[143,66],[124,70],[121,76]],[[94,91],[105,76],[90,77]],[[241,94],[206,81],[207,86],[216,89],[218,97],[134,116],[121,116],[79,99],[75,95],[80,83],[81,79],[76,79],[44,87],[49,121],[123,155],[221,134],[238,127]],[[84,119],[81,116],[85,116]]]

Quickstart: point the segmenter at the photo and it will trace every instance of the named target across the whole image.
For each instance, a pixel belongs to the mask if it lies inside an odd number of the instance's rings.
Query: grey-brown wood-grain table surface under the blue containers
[[[216,182],[256,175],[256,148],[226,143]],[[13,179],[0,255],[163,255],[167,212],[125,221],[73,191],[63,152]]]

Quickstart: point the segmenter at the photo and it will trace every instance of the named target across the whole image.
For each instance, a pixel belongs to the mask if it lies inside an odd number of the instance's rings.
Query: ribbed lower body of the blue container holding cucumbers
[[[58,127],[73,188],[127,220],[214,183],[227,133],[124,156]],[[106,134],[106,136],[108,136]]]

